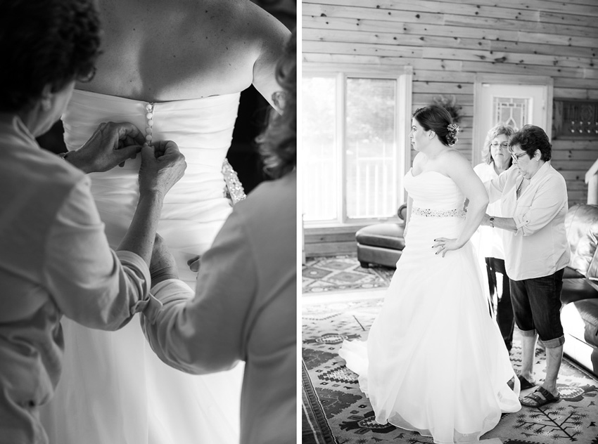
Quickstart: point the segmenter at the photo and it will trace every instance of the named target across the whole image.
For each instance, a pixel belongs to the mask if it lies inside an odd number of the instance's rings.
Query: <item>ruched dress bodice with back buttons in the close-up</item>
[[[171,140],[184,154],[187,169],[165,197],[158,232],[165,238],[182,278],[193,282],[186,261],[202,254],[231,211],[224,197],[222,162],[231,145],[239,93],[225,96],[151,103],[74,91],[63,115],[69,150],[83,145],[102,122],[130,122],[153,141]],[[148,105],[150,105],[148,107]],[[148,112],[151,110],[151,115]],[[151,120],[151,130],[148,121]],[[91,192],[111,246],[117,247],[131,223],[139,197],[141,163],[91,174]]]

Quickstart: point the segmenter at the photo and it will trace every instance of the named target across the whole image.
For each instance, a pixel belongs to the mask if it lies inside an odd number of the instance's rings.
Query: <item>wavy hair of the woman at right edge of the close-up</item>
[[[293,171],[297,164],[297,30],[276,65],[276,80],[282,86],[281,114],[272,111],[265,131],[257,137],[264,169],[272,178]]]

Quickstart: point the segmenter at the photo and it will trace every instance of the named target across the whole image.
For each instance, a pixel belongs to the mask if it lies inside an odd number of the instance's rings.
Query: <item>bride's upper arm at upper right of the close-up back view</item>
[[[272,94],[281,91],[276,81],[276,63],[284,55],[284,46],[291,37],[291,31],[262,8],[255,9],[254,23],[259,33],[260,51],[253,64],[253,86],[274,109],[280,111],[272,100]]]

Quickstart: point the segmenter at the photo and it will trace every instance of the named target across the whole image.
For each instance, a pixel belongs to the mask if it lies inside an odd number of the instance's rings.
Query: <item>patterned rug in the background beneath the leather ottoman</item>
[[[303,266],[303,293],[385,288],[394,268],[362,268],[357,256],[308,258]]]

